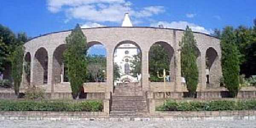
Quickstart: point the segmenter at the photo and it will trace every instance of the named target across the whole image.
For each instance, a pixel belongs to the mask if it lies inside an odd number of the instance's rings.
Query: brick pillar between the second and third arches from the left
[[[48,80],[47,80],[47,86],[51,87],[51,93],[54,93],[54,87],[53,87],[53,78],[52,78],[52,70],[53,70],[53,55],[52,54],[49,54],[48,55],[48,69],[47,69],[47,72],[48,72]]]

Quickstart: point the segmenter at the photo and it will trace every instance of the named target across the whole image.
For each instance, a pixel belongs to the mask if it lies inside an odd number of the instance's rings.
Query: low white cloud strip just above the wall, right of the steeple
[[[192,31],[194,32],[202,32],[206,34],[210,34],[211,30],[205,29],[203,26],[196,25],[194,23],[189,23],[186,21],[173,21],[173,22],[166,22],[166,21],[159,21],[157,23],[152,23],[151,26],[158,27],[158,25],[162,24],[164,28],[173,28],[173,29],[186,29],[186,26],[189,26]]]

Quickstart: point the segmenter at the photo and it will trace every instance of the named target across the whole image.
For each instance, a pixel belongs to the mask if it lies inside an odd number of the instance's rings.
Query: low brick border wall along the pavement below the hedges
[[[256,111],[172,111],[156,112],[142,117],[111,117],[104,112],[0,111],[0,120],[65,120],[65,121],[171,121],[171,120],[256,120]]]

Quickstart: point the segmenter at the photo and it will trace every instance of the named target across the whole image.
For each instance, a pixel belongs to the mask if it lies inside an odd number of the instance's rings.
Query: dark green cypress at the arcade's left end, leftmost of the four
[[[24,58],[25,47],[20,45],[16,47],[15,51],[12,52],[12,79],[14,84],[15,94],[18,95],[20,92],[20,84],[23,73],[23,58]]]

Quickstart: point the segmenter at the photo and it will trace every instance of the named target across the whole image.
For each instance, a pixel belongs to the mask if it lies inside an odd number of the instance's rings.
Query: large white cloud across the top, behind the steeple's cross
[[[120,23],[127,11],[126,0],[48,0],[48,10],[52,13],[64,12],[67,19],[87,20],[91,22]],[[151,17],[164,12],[163,6],[148,6],[140,10],[129,9],[136,20]],[[67,20],[67,21],[69,21]]]

